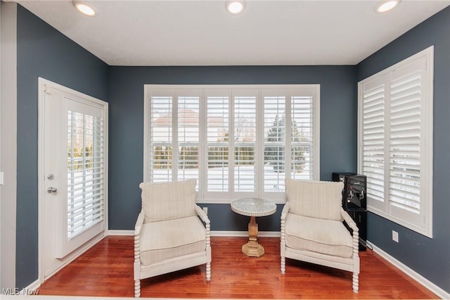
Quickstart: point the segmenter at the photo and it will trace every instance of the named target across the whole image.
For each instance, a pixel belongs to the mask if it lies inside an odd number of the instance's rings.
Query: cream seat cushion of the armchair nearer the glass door
[[[205,226],[196,215],[144,223],[140,240],[141,264],[149,265],[205,251]]]

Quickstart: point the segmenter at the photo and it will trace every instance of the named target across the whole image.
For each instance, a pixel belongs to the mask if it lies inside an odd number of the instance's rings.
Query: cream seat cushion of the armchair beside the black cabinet
[[[285,241],[288,248],[313,251],[350,258],[353,239],[338,220],[309,218],[288,213],[285,221]]]

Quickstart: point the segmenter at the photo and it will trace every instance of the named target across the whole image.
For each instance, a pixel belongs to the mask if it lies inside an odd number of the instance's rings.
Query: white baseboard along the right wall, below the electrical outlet
[[[416,282],[418,282],[420,285],[423,285],[423,287],[426,287],[427,289],[429,289],[430,292],[436,294],[436,296],[439,296],[439,298],[441,298],[441,299],[450,299],[450,294],[447,293],[446,291],[444,291],[444,289],[441,289],[434,283],[430,282],[430,280],[426,279],[419,273],[416,273],[416,271],[412,270],[407,265],[404,265],[400,261],[397,261],[396,258],[390,256],[390,254],[387,254],[385,251],[378,248],[378,246],[375,246],[370,241],[367,241],[367,243],[371,244],[371,246],[373,246],[373,251],[376,254],[385,258],[386,261],[389,261],[390,263],[392,263],[392,265],[394,265],[396,268],[401,270],[401,272],[405,273],[406,275],[411,277],[413,280],[416,280]]]

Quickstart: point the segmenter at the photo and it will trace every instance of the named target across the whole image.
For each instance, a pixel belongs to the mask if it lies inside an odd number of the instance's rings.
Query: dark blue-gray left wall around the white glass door
[[[16,287],[38,278],[37,77],[108,100],[108,65],[18,5]]]

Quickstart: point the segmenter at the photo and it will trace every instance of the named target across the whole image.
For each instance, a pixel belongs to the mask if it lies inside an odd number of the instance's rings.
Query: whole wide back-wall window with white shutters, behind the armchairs
[[[144,180],[198,180],[198,201],[283,201],[319,180],[319,85],[147,85]]]

